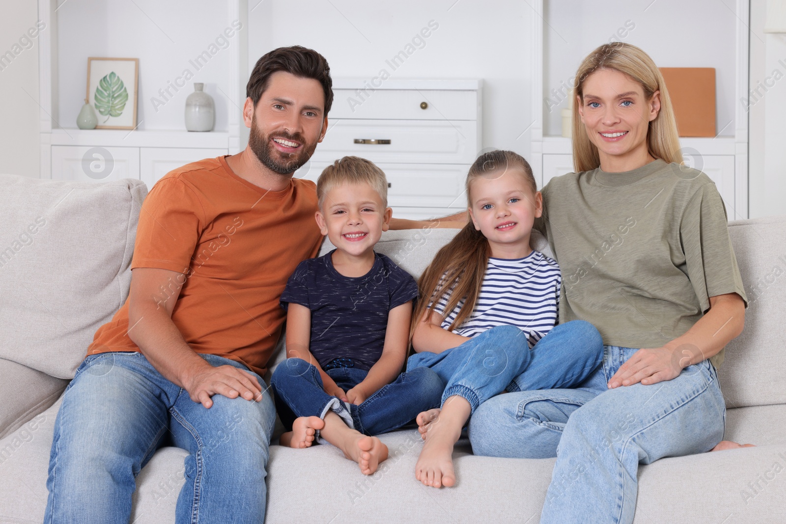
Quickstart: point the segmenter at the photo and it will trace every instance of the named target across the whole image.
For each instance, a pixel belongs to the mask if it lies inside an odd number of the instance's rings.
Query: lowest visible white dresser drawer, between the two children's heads
[[[295,173],[295,178],[317,181],[332,162],[311,161]],[[464,182],[469,164],[377,163],[387,183],[387,205],[397,207],[440,207],[457,210],[467,207]],[[395,212],[394,212],[395,214]]]

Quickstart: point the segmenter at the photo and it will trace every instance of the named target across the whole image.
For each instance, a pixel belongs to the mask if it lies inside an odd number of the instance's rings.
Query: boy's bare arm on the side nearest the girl
[[[385,344],[380,360],[371,366],[369,374],[357,386],[347,391],[347,399],[352,404],[362,404],[366,398],[375,394],[380,387],[395,380],[406,358],[406,347],[410,336],[412,320],[412,301],[395,306],[387,313]]]

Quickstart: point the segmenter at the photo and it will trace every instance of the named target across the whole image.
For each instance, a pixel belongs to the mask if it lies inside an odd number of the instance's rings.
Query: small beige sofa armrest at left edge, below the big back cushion
[[[53,405],[68,382],[0,358],[0,438]]]

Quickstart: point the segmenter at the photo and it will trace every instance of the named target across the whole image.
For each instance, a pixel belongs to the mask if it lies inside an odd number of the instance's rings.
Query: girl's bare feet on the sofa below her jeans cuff
[[[456,473],[453,467],[453,446],[461,437],[461,428],[469,419],[472,409],[469,402],[459,396],[448,398],[441,412],[429,410],[417,417],[420,426],[421,420],[426,421],[429,415],[435,415],[432,422],[439,416],[439,423],[428,422],[425,433],[421,431],[425,442],[421,456],[415,464],[415,478],[423,482],[424,486],[439,488],[450,487],[456,483]],[[420,431],[421,427],[418,427]]]

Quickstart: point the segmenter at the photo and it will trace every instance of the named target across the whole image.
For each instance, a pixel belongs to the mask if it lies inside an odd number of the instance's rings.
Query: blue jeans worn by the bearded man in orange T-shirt
[[[270,394],[259,402],[216,394],[205,409],[141,353],[90,355],[57,413],[44,522],[128,524],[135,478],[162,445],[189,452],[176,522],[264,522],[274,421]]]

